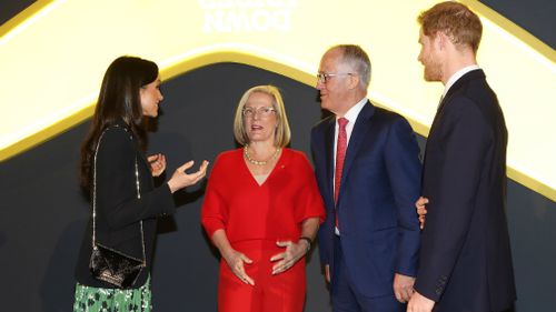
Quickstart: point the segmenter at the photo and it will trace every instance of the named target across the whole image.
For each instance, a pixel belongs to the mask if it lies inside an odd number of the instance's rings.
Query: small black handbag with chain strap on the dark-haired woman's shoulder
[[[127,289],[135,284],[137,278],[141,273],[142,269],[147,266],[145,258],[145,234],[141,225],[141,246],[142,246],[142,259],[137,259],[135,256],[125,254],[115,249],[101,245],[96,241],[96,218],[97,218],[97,152],[100,145],[100,140],[97,144],[97,150],[95,151],[95,172],[93,172],[93,187],[92,187],[92,253],[89,261],[89,270],[93,278],[97,280],[107,282],[119,289]],[[140,199],[141,194],[139,192],[139,170],[137,168],[136,159],[136,184],[137,184],[137,198]]]

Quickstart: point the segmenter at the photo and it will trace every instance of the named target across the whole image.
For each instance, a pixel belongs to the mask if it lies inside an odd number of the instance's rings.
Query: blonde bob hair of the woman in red
[[[291,139],[291,132],[289,130],[288,117],[286,115],[286,109],[284,108],[284,100],[281,99],[280,91],[274,85],[256,85],[247,90],[241,99],[239,100],[238,107],[236,108],[236,117],[234,118],[234,137],[241,145],[249,144],[249,137],[245,129],[244,122],[244,108],[252,93],[265,93],[272,98],[272,108],[276,111],[276,132],[275,132],[275,147],[285,148],[289,144]]]

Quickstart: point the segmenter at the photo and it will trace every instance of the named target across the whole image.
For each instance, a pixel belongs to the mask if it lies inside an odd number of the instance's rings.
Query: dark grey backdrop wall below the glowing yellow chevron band
[[[171,173],[193,159],[214,161],[234,149],[232,117],[255,84],[280,88],[292,128],[291,148],[309,155],[309,132],[321,118],[314,88],[256,68],[222,63],[162,84],[165,101],[150,152]],[[373,90],[373,88],[370,88]],[[88,203],[78,187],[79,145],[89,121],[0,163],[1,311],[71,311],[73,265]],[[510,133],[512,134],[512,133]],[[419,143],[424,145],[424,139]],[[203,185],[176,198],[178,213],[160,221],[152,273],[156,311],[216,311],[218,254],[199,223]],[[508,223],[518,312],[556,306],[556,205],[508,180]],[[330,311],[318,250],[307,266],[307,312]]]

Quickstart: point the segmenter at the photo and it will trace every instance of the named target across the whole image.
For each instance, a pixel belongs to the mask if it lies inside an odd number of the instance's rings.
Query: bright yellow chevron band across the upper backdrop
[[[89,118],[121,54],[157,61],[163,80],[239,62],[314,85],[329,46],[357,43],[371,58],[371,100],[427,135],[443,85],[423,81],[416,17],[436,2],[38,1],[0,28],[0,161]],[[484,22],[478,60],[508,124],[508,177],[554,201],[556,51],[478,1],[461,2]]]

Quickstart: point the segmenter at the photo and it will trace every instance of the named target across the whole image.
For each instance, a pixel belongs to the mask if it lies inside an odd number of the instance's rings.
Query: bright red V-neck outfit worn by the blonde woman
[[[218,311],[297,312],[305,302],[305,259],[272,275],[270,256],[284,252],[277,241],[297,242],[301,223],[325,210],[312,169],[302,152],[284,149],[259,185],[244,161],[242,149],[218,155],[205,193],[202,225],[209,238],[224,229],[231,246],[252,260],[245,264],[255,286],[242,283],[220,261]]]

